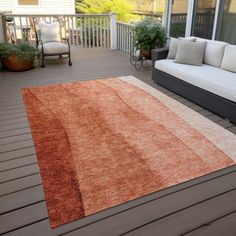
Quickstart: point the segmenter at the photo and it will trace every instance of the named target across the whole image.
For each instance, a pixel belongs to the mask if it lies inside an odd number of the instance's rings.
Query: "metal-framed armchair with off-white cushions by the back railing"
[[[36,27],[37,24],[37,27]],[[71,66],[70,43],[67,38],[61,37],[60,23],[58,21],[47,23],[35,22],[36,46],[41,56],[41,67],[45,66],[45,57],[59,56],[59,59],[69,58]]]

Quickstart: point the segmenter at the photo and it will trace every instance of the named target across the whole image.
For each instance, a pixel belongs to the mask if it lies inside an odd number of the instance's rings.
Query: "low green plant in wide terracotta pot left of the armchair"
[[[10,71],[25,71],[33,68],[36,48],[27,43],[0,43],[0,57],[4,68]]]

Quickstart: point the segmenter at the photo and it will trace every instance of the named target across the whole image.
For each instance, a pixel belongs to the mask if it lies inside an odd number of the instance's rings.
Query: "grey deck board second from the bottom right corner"
[[[236,210],[236,190],[205,200],[123,235],[181,235]],[[225,201],[229,204],[225,204]]]

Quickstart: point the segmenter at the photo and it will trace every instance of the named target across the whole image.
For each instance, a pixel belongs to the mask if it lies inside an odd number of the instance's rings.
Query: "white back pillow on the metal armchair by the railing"
[[[39,22],[40,39],[43,43],[60,42],[60,25],[59,22],[46,23]]]

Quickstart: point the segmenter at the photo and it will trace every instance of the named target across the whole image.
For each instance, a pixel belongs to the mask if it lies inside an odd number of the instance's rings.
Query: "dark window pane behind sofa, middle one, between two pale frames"
[[[201,38],[212,38],[216,0],[195,0],[192,35]]]

